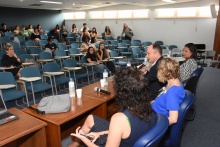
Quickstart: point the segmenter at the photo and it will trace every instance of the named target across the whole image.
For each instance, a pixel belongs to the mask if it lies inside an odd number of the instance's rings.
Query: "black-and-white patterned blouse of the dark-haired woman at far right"
[[[197,69],[197,62],[195,59],[188,59],[180,66],[180,80],[185,81],[190,78],[191,74]]]

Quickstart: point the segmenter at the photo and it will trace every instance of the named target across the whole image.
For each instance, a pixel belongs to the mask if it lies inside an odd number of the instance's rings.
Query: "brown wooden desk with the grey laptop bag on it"
[[[81,100],[72,98],[71,109],[66,113],[39,115],[30,108],[25,108],[23,111],[48,124],[46,127],[48,147],[61,147],[61,140],[75,132],[78,126],[82,126],[89,114],[106,118],[104,101],[84,95]]]

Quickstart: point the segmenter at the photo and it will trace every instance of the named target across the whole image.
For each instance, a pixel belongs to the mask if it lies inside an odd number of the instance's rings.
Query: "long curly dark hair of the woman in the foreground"
[[[148,80],[133,67],[123,68],[114,76],[115,104],[119,111],[128,109],[132,115],[150,121],[153,110],[150,104]]]

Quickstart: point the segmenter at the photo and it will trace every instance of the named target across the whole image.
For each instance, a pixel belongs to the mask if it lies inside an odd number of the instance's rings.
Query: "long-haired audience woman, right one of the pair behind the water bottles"
[[[98,49],[96,55],[99,58],[99,60],[105,60],[105,59],[109,60],[110,59],[109,52],[105,48],[104,43],[99,44],[99,49]],[[112,61],[104,62],[104,64],[108,67],[108,69],[111,71],[111,73],[115,73],[115,64]]]

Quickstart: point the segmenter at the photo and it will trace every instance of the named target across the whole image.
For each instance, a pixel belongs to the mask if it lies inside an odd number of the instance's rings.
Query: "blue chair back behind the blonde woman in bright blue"
[[[163,138],[163,142],[161,144],[162,146],[172,146],[172,147],[180,146],[182,130],[183,130],[186,114],[193,105],[194,101],[195,101],[194,94],[186,90],[185,98],[180,104],[180,109],[178,112],[178,120],[175,124],[169,127],[167,134]]]

